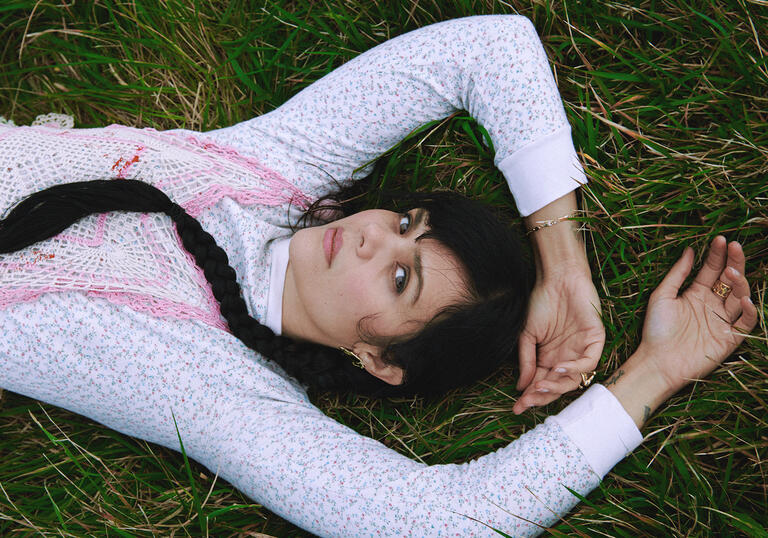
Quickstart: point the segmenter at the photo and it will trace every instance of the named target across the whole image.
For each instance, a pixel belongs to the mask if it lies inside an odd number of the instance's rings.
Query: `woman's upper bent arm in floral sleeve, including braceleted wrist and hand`
[[[529,227],[573,214],[586,181],[552,69],[531,22],[512,15],[450,20],[389,40],[262,117],[209,133],[254,152],[311,198],[362,177],[414,129],[465,109],[488,131]],[[520,344],[516,407],[560,362],[596,367],[605,341],[577,222],[532,234],[539,272]],[[561,312],[553,312],[560,308]],[[538,346],[538,350],[537,350]],[[571,383],[564,390],[573,390]],[[561,392],[548,395],[554,400]]]

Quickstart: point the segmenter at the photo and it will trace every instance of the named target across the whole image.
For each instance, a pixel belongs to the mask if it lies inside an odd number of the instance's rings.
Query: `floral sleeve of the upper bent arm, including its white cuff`
[[[586,181],[541,42],[520,16],[434,24],[347,62],[278,109],[211,131],[317,197],[417,127],[467,110],[523,215]]]

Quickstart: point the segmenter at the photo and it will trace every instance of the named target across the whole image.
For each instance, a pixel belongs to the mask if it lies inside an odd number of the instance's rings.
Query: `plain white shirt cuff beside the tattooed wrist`
[[[643,440],[629,414],[602,385],[590,387],[552,419],[601,479]]]

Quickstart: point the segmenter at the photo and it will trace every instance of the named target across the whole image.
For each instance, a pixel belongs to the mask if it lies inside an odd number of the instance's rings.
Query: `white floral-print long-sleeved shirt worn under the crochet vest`
[[[489,132],[521,213],[584,182],[544,51],[530,22],[515,16],[458,19],[411,32],[269,114],[205,134],[167,136],[191,137],[194,152],[209,151],[212,163],[227,148],[230,157],[260,163],[311,199],[333,189],[334,181],[361,177],[364,165],[413,129],[458,109]],[[85,131],[34,129],[0,127],[0,146]],[[108,129],[87,134],[114,136]],[[153,144],[142,131],[117,129]],[[14,175],[16,201],[41,188],[35,167],[52,160],[57,181],[90,179],[78,175],[73,157],[46,150],[55,147],[40,146],[27,179]],[[0,191],[11,190],[11,165],[28,162],[10,153],[0,152]],[[141,179],[141,156],[130,169],[124,163],[133,157],[121,158],[115,161],[121,166],[104,160],[102,178]],[[222,192],[196,212],[229,254],[252,314],[264,319],[270,244],[290,235],[297,208]],[[8,290],[12,273],[0,268],[0,291]],[[197,282],[193,277],[189,282]],[[498,536],[491,528],[536,534],[578,501],[568,488],[588,493],[640,440],[618,402],[595,386],[505,448],[461,465],[424,465],[326,417],[294,380],[215,319],[132,308],[131,301],[111,298],[38,290],[8,300],[0,309],[0,387],[178,450],[175,418],[190,457],[318,535]]]

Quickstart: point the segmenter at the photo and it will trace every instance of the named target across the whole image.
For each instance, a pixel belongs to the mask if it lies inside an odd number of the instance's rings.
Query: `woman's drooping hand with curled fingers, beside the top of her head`
[[[531,405],[546,405],[579,385],[580,374],[594,370],[605,344],[600,301],[588,269],[573,268],[547,275],[531,294],[528,318],[520,335],[520,378],[525,389],[514,407],[522,413]],[[537,392],[541,380],[559,381],[546,393]]]

